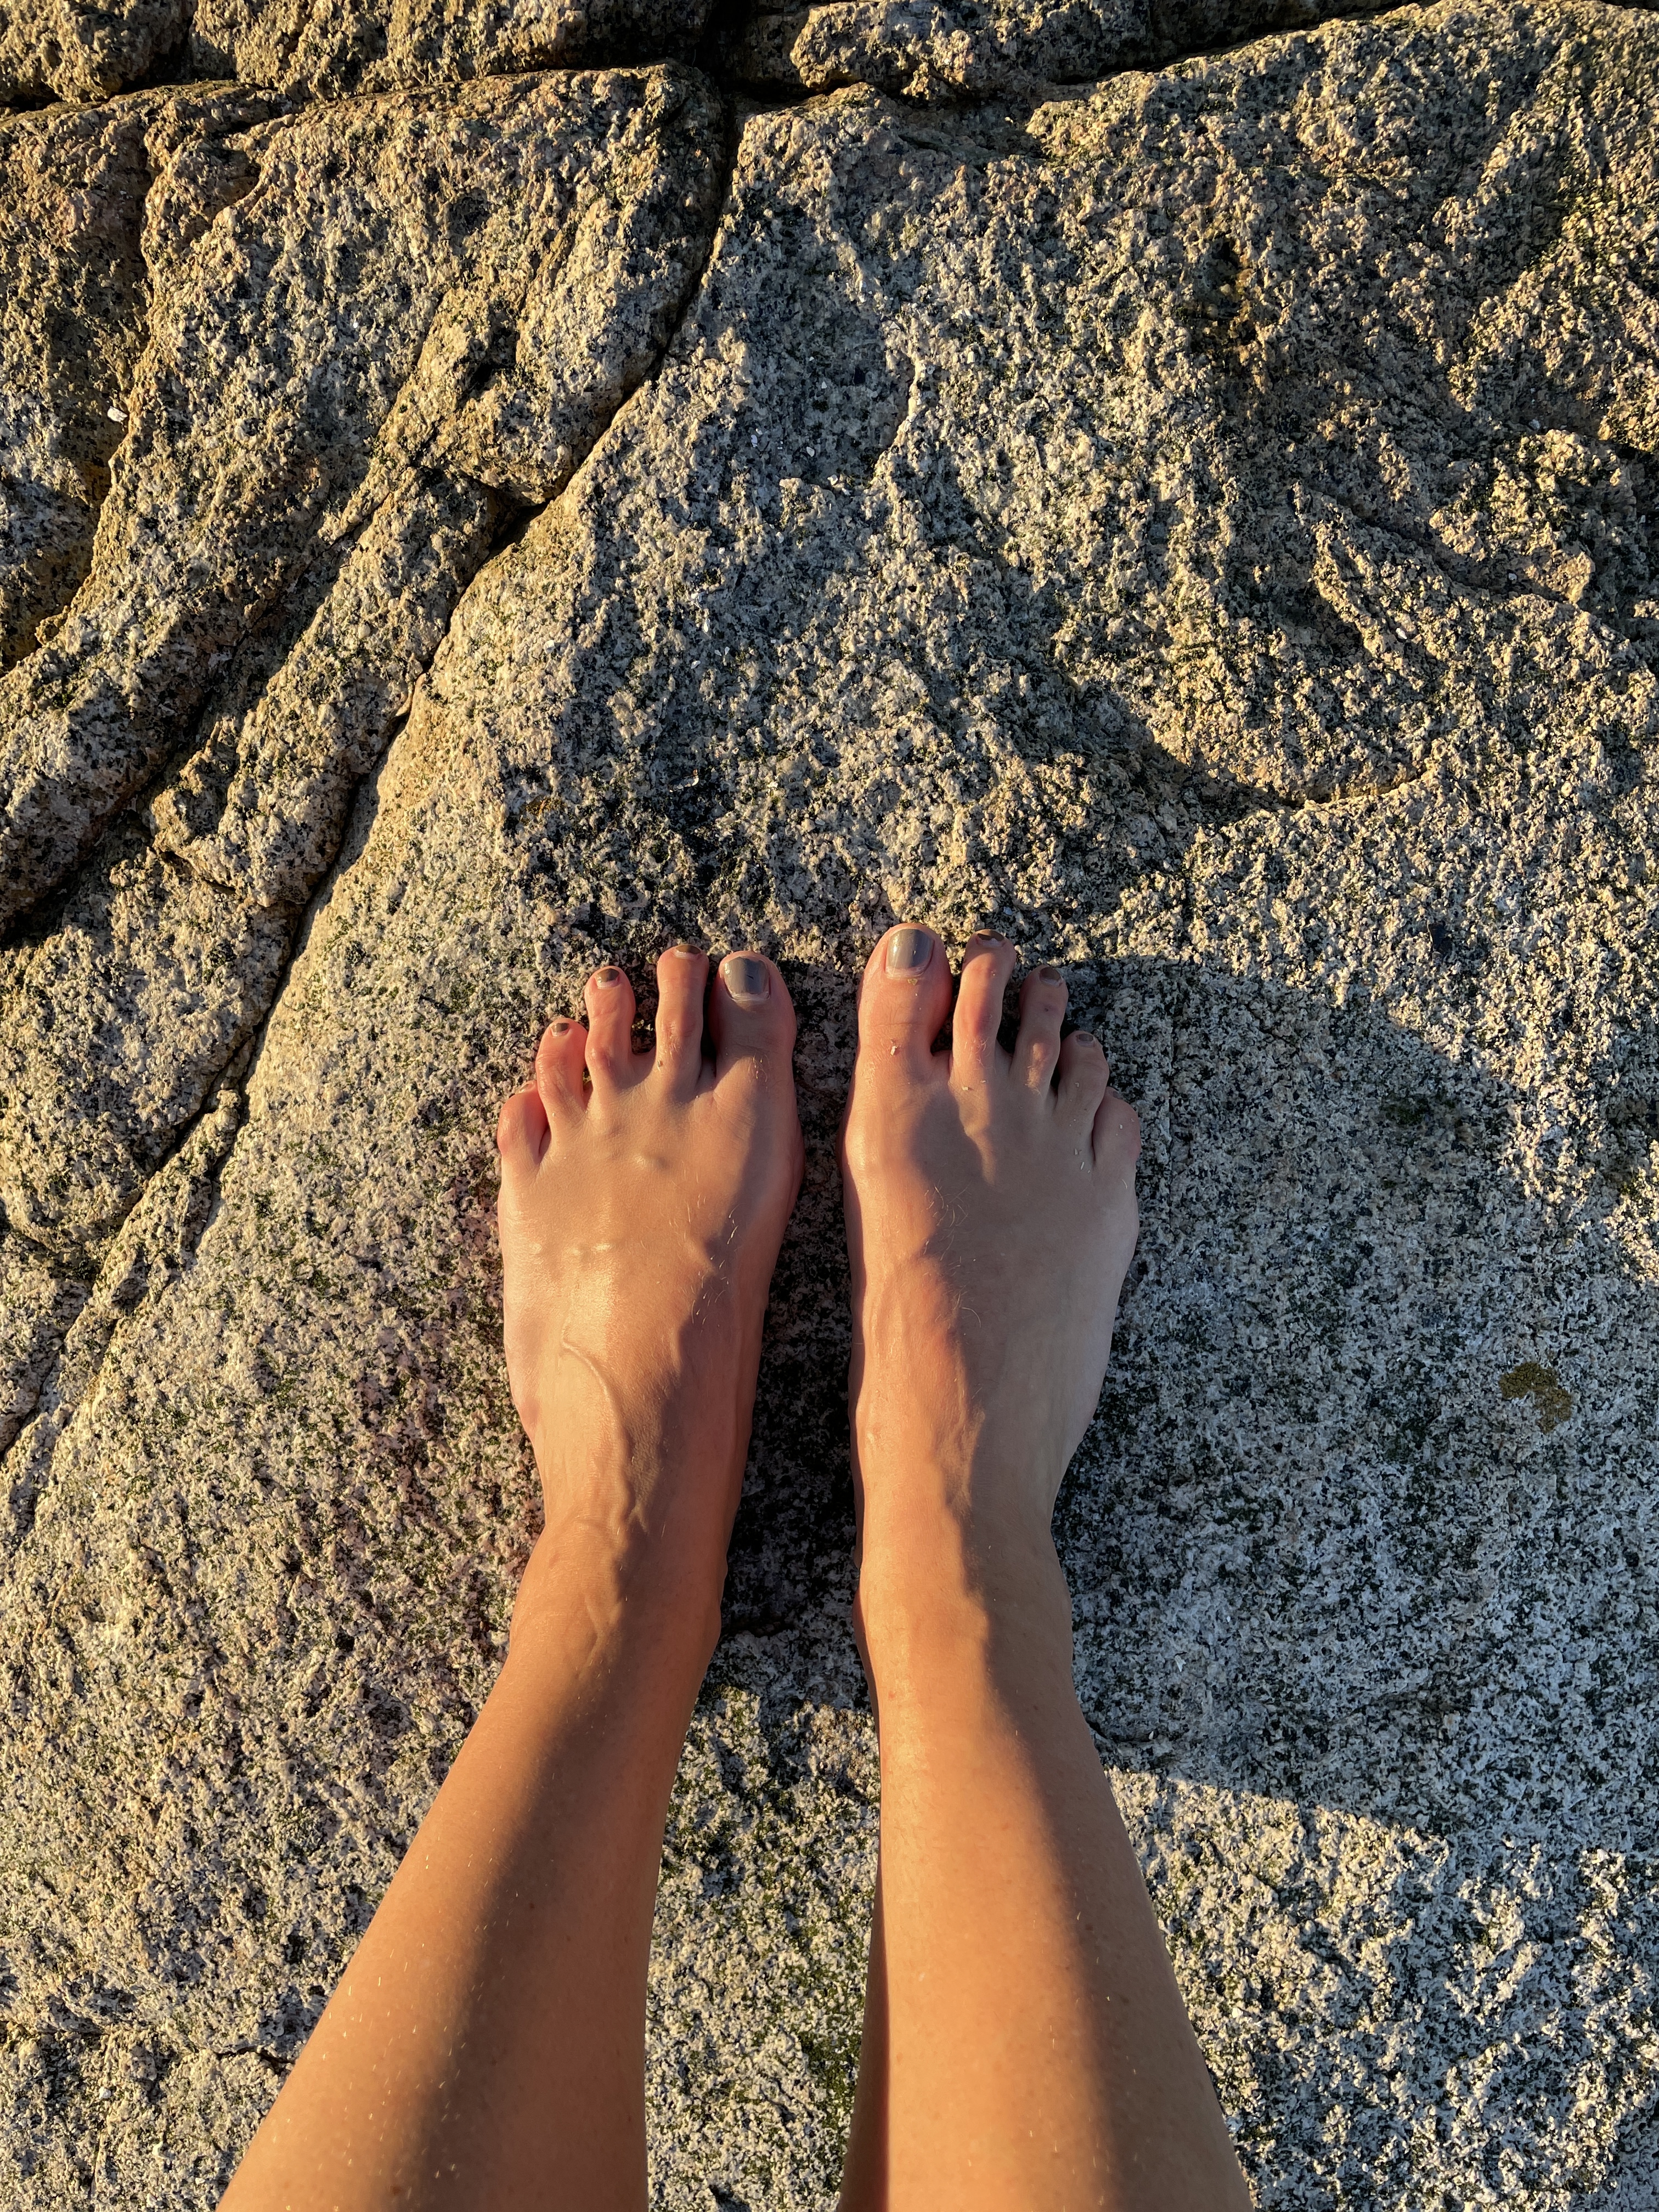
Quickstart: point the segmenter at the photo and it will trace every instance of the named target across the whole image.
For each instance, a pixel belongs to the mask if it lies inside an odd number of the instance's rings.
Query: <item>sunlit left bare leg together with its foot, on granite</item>
[[[779,971],[619,969],[502,1108],[507,1367],[546,1531],[478,1725],[226,2205],[646,2201],[646,1953],[801,1179]],[[584,1086],[584,1064],[591,1088]]]

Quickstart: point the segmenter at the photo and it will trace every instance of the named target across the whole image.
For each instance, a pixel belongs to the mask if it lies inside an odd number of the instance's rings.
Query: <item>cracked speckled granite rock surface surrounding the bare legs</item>
[[[1062,962],[1141,1108],[1057,1537],[1259,2201],[1659,2203],[1659,20],[1022,22],[0,119],[20,2205],[210,2205],[367,1924],[538,1526],[493,1108],[681,933],[783,962],[807,1172],[653,2201],[834,2203],[907,914]]]

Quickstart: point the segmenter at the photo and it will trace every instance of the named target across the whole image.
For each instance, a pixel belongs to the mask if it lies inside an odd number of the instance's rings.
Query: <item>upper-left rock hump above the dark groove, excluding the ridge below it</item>
[[[387,502],[451,473],[518,502],[560,489],[701,261],[714,144],[695,80],[653,73],[365,100],[170,150],[93,571],[0,686],[0,916],[166,759],[243,639],[325,597]]]

